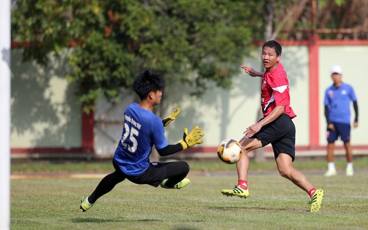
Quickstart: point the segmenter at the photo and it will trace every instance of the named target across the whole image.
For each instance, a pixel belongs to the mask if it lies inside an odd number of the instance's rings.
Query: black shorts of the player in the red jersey
[[[252,138],[260,139],[262,147],[271,144],[275,159],[279,153],[284,152],[289,154],[294,161],[295,125],[287,114],[282,113],[275,121],[263,126]]]

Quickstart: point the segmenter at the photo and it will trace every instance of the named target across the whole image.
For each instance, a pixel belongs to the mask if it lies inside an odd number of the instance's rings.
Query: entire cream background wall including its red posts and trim
[[[368,78],[362,76],[367,40],[280,41],[284,65],[290,83],[291,106],[297,117],[296,155],[325,155],[327,144],[323,98],[326,87],[332,84],[330,67],[343,68],[343,82],[351,84],[358,98],[359,127],[352,129],[354,154],[368,153],[365,138],[368,108],[363,106],[364,87]],[[262,71],[262,44],[243,64]],[[75,87],[65,75],[70,68],[66,55],[51,59],[45,68],[35,63],[22,64],[21,49],[12,49],[12,158],[112,157],[121,136],[122,116],[129,103],[137,98],[124,92],[122,102],[109,104],[97,101],[94,113],[85,114],[74,95]],[[240,69],[240,68],[239,68]],[[137,73],[138,74],[138,73]],[[257,121],[261,78],[240,72],[233,80],[233,88],[223,90],[212,86],[202,98],[189,103],[186,85],[167,86],[167,114],[180,107],[175,122],[166,128],[169,143],[182,138],[182,130],[194,125],[203,127],[205,143],[187,149],[185,156],[214,157],[217,145],[225,138],[240,139],[246,127]],[[353,119],[353,116],[352,116]],[[342,143],[337,149],[342,150]],[[271,147],[265,148],[272,154]],[[179,155],[180,156],[180,155]]]

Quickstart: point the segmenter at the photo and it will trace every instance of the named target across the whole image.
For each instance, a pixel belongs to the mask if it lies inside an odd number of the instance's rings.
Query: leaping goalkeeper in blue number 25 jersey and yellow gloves
[[[165,189],[181,189],[190,183],[186,178],[189,172],[187,162],[162,163],[149,160],[153,145],[160,156],[168,156],[202,144],[203,140],[199,139],[205,135],[198,126],[190,133],[185,128],[183,139],[179,143],[167,144],[164,127],[175,119],[180,109],[176,108],[162,121],[152,112],[153,107],[160,103],[163,87],[163,78],[151,68],[136,77],[133,88],[141,102],[130,104],[124,113],[121,139],[112,160],[115,171],[104,177],[89,197],[82,198],[80,208],[83,212],[125,179],[139,185],[160,185]]]

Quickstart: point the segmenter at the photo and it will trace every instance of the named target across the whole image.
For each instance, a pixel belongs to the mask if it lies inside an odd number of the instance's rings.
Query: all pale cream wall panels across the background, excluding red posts
[[[11,147],[80,147],[81,108],[65,75],[70,71],[66,55],[64,59],[52,59],[47,67],[35,63],[21,63],[21,49],[12,50],[12,124]],[[367,145],[365,139],[368,113],[364,106],[365,86],[368,78],[360,69],[364,67],[364,54],[368,46],[320,46],[319,49],[319,119],[316,127],[320,133],[320,146],[325,140],[326,122],[323,97],[325,88],[332,84],[330,67],[339,64],[344,70],[343,81],[351,84],[358,98],[359,127],[351,132],[352,145]],[[261,47],[251,57],[243,60],[262,71]],[[52,57],[52,56],[51,56]],[[309,145],[309,56],[307,46],[283,46],[281,63],[290,83],[291,107],[297,117],[296,146]],[[240,67],[239,67],[240,70]],[[240,139],[242,132],[257,121],[260,106],[261,78],[250,77],[243,71],[233,78],[233,87],[223,90],[210,85],[202,98],[189,97],[190,87],[179,82],[167,86],[167,114],[176,107],[181,112],[166,128],[169,143],[182,138],[184,128],[199,125],[204,129],[204,147],[217,147],[226,138]],[[110,155],[115,151],[121,136],[122,116],[135,94],[129,91],[124,100],[112,106],[105,100],[98,101],[95,111],[96,126],[94,144],[98,155]],[[106,123],[107,121],[107,123]],[[120,123],[119,123],[120,122]]]

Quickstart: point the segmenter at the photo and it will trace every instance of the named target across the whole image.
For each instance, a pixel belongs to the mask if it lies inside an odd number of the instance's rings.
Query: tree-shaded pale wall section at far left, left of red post
[[[47,67],[22,63],[22,50],[12,50],[11,147],[80,147],[81,106],[75,87],[65,78],[66,58],[50,56]]]

